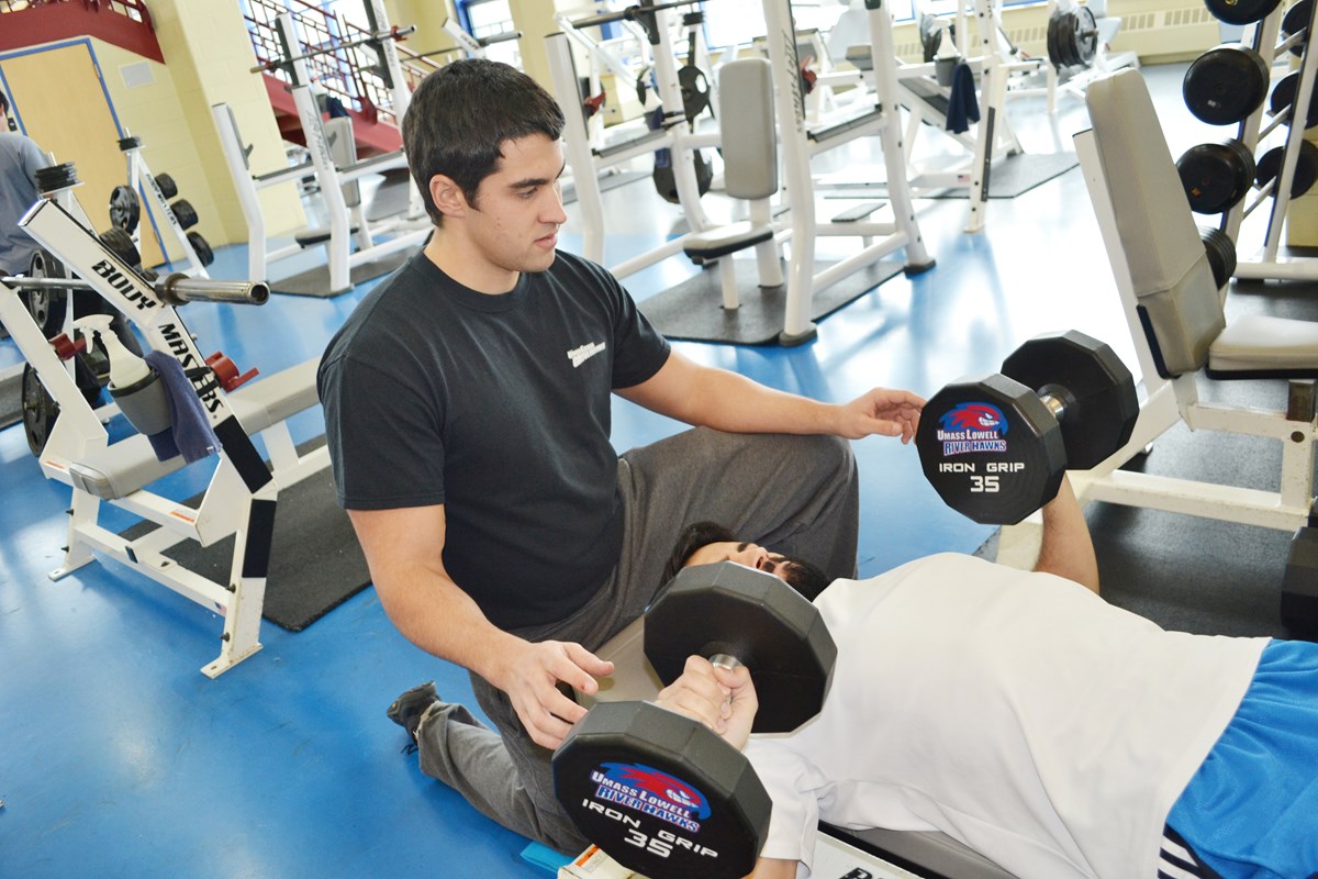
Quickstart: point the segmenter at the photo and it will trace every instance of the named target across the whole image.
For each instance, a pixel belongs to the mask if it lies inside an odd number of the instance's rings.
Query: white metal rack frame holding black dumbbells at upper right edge
[[[1288,54],[1290,47],[1297,42],[1304,42],[1304,53],[1301,54],[1300,63],[1300,84],[1296,88],[1296,98],[1290,105],[1290,119],[1296,123],[1290,124],[1286,133],[1286,141],[1282,152],[1281,173],[1272,182],[1272,211],[1268,215],[1268,228],[1264,237],[1263,248],[1251,260],[1239,260],[1236,262],[1236,278],[1247,279],[1286,279],[1286,281],[1314,281],[1318,279],[1318,260],[1298,257],[1293,260],[1282,260],[1278,257],[1278,250],[1281,246],[1281,236],[1285,227],[1286,211],[1290,207],[1290,187],[1296,177],[1296,166],[1300,159],[1300,149],[1305,140],[1305,124],[1301,120],[1306,120],[1309,112],[1309,101],[1314,94],[1314,79],[1318,75],[1318,51],[1314,50],[1313,41],[1309,40],[1309,34],[1314,29],[1314,11],[1318,11],[1318,4],[1313,4],[1310,8],[1309,26],[1302,34],[1293,34],[1285,42],[1277,42],[1281,33],[1281,20],[1286,12],[1286,4],[1277,7],[1267,18],[1255,25],[1253,32],[1253,50],[1257,51],[1265,61],[1272,62]],[[1264,101],[1264,105],[1267,101]],[[1288,116],[1285,113],[1278,115],[1267,127],[1263,125],[1264,105],[1260,105],[1249,116],[1239,124],[1239,130],[1236,133],[1236,140],[1239,140],[1251,152],[1256,153],[1259,142],[1265,140],[1277,127],[1286,124]],[[1256,200],[1251,206],[1246,206],[1244,200],[1232,207],[1222,220],[1223,231],[1231,236],[1232,241],[1239,242],[1240,240],[1240,227],[1248,213],[1260,207],[1269,194],[1267,190],[1256,195]]]

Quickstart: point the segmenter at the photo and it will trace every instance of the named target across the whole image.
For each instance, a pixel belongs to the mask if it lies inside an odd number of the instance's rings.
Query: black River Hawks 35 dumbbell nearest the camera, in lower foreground
[[[750,669],[754,731],[824,706],[837,646],[818,610],[774,575],[731,561],[683,569],[646,613],[664,684],[687,658]],[[598,702],[554,752],[554,792],[581,836],[651,879],[733,879],[755,866],[771,803],[750,762],[704,723],[650,702]]]

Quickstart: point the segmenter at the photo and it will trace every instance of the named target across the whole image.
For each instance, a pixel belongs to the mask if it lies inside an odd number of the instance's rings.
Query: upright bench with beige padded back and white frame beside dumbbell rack
[[[1314,382],[1318,323],[1269,315],[1227,320],[1209,256],[1153,109],[1144,78],[1122,70],[1090,83],[1090,130],[1075,134],[1094,212],[1116,279],[1147,398],[1124,448],[1073,474],[1077,497],[1239,522],[1282,531],[1314,514]],[[1289,382],[1285,410],[1203,402],[1228,380]],[[1281,443],[1277,490],[1236,488],[1118,469],[1185,422]],[[1003,528],[999,560],[1028,567],[1039,519]],[[1282,621],[1318,629],[1318,584],[1282,590]]]

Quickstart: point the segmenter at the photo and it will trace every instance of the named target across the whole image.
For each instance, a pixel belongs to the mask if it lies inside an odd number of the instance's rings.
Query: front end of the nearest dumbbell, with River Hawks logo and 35
[[[645,876],[750,874],[772,804],[750,760],[651,702],[598,702],[554,752],[554,795],[587,839]]]

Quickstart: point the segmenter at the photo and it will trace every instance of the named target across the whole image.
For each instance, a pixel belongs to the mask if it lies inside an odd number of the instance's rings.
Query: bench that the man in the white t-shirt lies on
[[[654,701],[659,696],[663,683],[645,658],[645,617],[634,619],[594,652],[612,662],[614,672],[600,679],[596,696],[576,691],[577,702],[589,708],[597,701]],[[944,833],[846,830],[826,824],[821,832],[917,875],[925,871],[924,875],[948,879],[1012,879],[1010,872]]]

